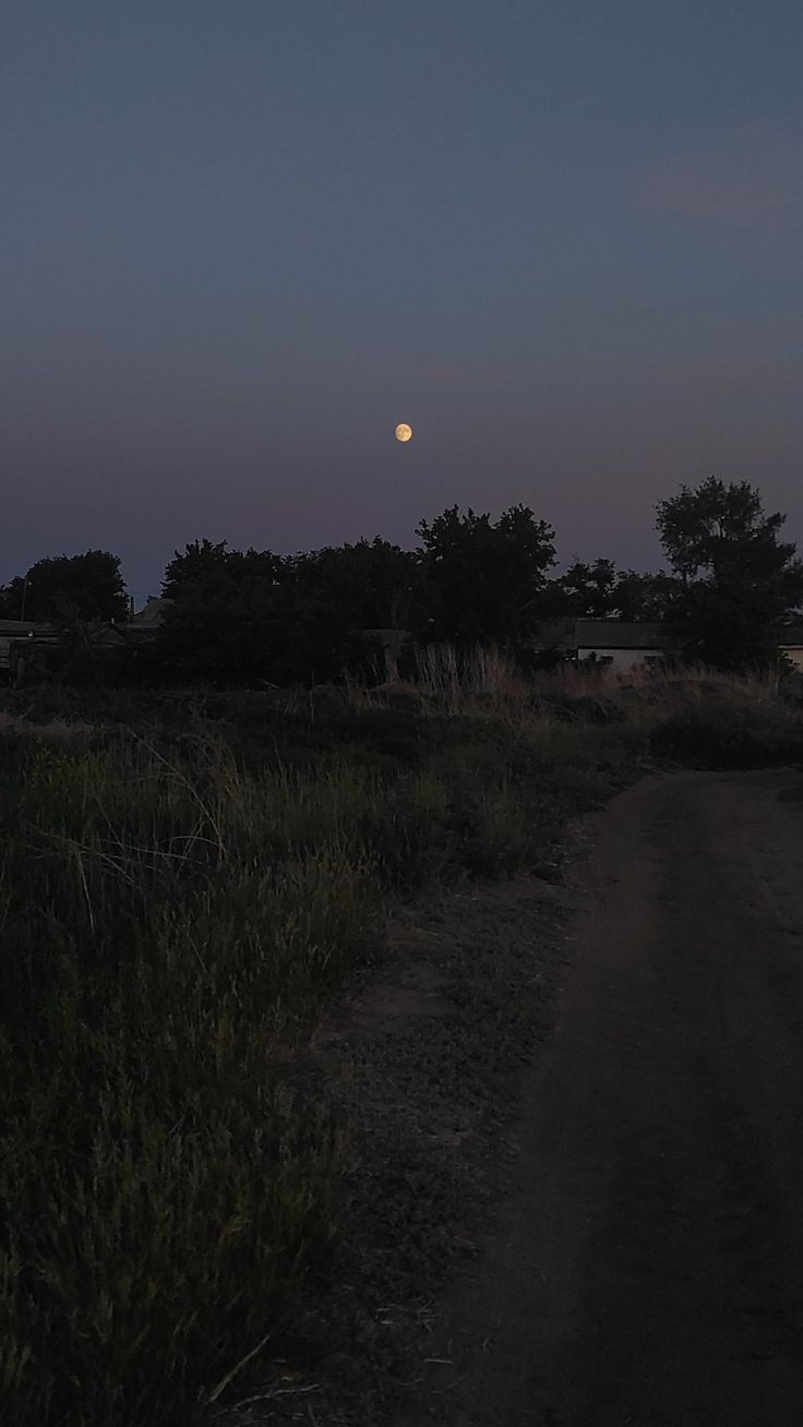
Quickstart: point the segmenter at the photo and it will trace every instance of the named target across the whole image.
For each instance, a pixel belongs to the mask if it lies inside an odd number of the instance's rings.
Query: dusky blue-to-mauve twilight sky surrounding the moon
[[[802,70],[800,0],[3,0],[0,584],[454,502],[655,568],[710,474],[803,545]]]

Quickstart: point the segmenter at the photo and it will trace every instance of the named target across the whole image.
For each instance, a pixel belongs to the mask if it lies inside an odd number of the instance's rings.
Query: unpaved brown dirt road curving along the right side
[[[645,781],[586,888],[516,1192],[406,1421],[803,1423],[803,775]]]

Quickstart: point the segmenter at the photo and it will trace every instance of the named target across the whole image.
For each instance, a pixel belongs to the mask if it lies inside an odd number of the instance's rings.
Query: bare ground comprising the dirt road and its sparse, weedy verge
[[[803,1421],[803,775],[646,778],[569,850],[411,909],[322,1029],[351,1276],[238,1423]]]

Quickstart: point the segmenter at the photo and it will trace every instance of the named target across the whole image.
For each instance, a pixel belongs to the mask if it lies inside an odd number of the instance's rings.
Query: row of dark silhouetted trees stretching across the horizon
[[[446,508],[416,528],[418,547],[381,537],[298,555],[195,539],[168,562],[157,638],[128,674],[217,684],[327,682],[371,655],[367,631],[416,644],[499,645],[523,664],[563,616],[676,626],[686,656],[719,668],[766,664],[773,626],[803,601],[803,562],[749,482],[709,477],[656,507],[668,571],[575,561],[555,575],[555,531],[526,505],[496,521]],[[47,621],[64,638],[124,622],[121,562],[107,551],[37,561],[0,588],[0,618]],[[121,668],[124,656],[120,656]],[[134,668],[135,665],[135,668]]]

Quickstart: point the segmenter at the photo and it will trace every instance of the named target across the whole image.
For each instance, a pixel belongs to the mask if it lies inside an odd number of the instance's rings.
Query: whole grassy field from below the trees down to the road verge
[[[0,714],[0,1420],[203,1421],[334,1263],[348,1126],[278,1067],[394,900],[545,866],[650,765],[803,758],[685,674],[16,691]]]

